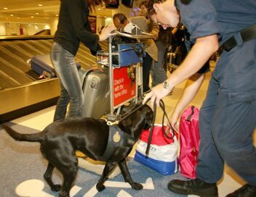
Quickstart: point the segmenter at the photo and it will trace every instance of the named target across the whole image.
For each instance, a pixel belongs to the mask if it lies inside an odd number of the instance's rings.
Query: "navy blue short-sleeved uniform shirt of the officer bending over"
[[[176,0],[176,4],[192,43],[196,38],[217,33],[221,44],[256,23],[255,0],[191,0],[187,5]]]

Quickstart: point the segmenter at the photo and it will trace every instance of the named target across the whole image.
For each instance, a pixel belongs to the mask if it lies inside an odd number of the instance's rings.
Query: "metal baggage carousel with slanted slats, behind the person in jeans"
[[[40,80],[29,62],[33,56],[49,54],[52,42],[52,35],[0,36],[0,124],[56,104],[57,77]],[[100,46],[108,49],[107,42]],[[96,57],[82,43],[75,59],[85,70],[96,65]]]

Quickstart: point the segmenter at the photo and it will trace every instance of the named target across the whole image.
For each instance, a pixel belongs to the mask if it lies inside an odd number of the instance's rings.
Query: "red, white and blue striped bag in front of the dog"
[[[167,126],[164,126],[167,130]],[[177,172],[177,136],[169,139],[164,136],[161,125],[155,124],[153,127],[153,135],[151,147],[148,156],[145,155],[145,150],[148,144],[149,130],[143,130],[140,135],[140,140],[137,143],[135,161],[151,169],[156,170],[162,175],[172,175]],[[172,137],[171,133],[168,133]]]

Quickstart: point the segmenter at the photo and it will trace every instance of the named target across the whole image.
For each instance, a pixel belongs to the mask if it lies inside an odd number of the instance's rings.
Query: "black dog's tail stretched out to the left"
[[[16,141],[31,141],[31,142],[41,142],[44,140],[44,133],[30,133],[30,134],[23,134],[23,133],[17,133],[15,130],[13,130],[11,127],[7,125],[2,125],[4,130],[7,131],[7,133],[14,138]]]

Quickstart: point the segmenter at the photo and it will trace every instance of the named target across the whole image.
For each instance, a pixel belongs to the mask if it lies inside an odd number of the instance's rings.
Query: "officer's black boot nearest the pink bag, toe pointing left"
[[[193,194],[201,197],[217,197],[216,183],[206,183],[204,180],[171,180],[168,189],[174,193]]]

